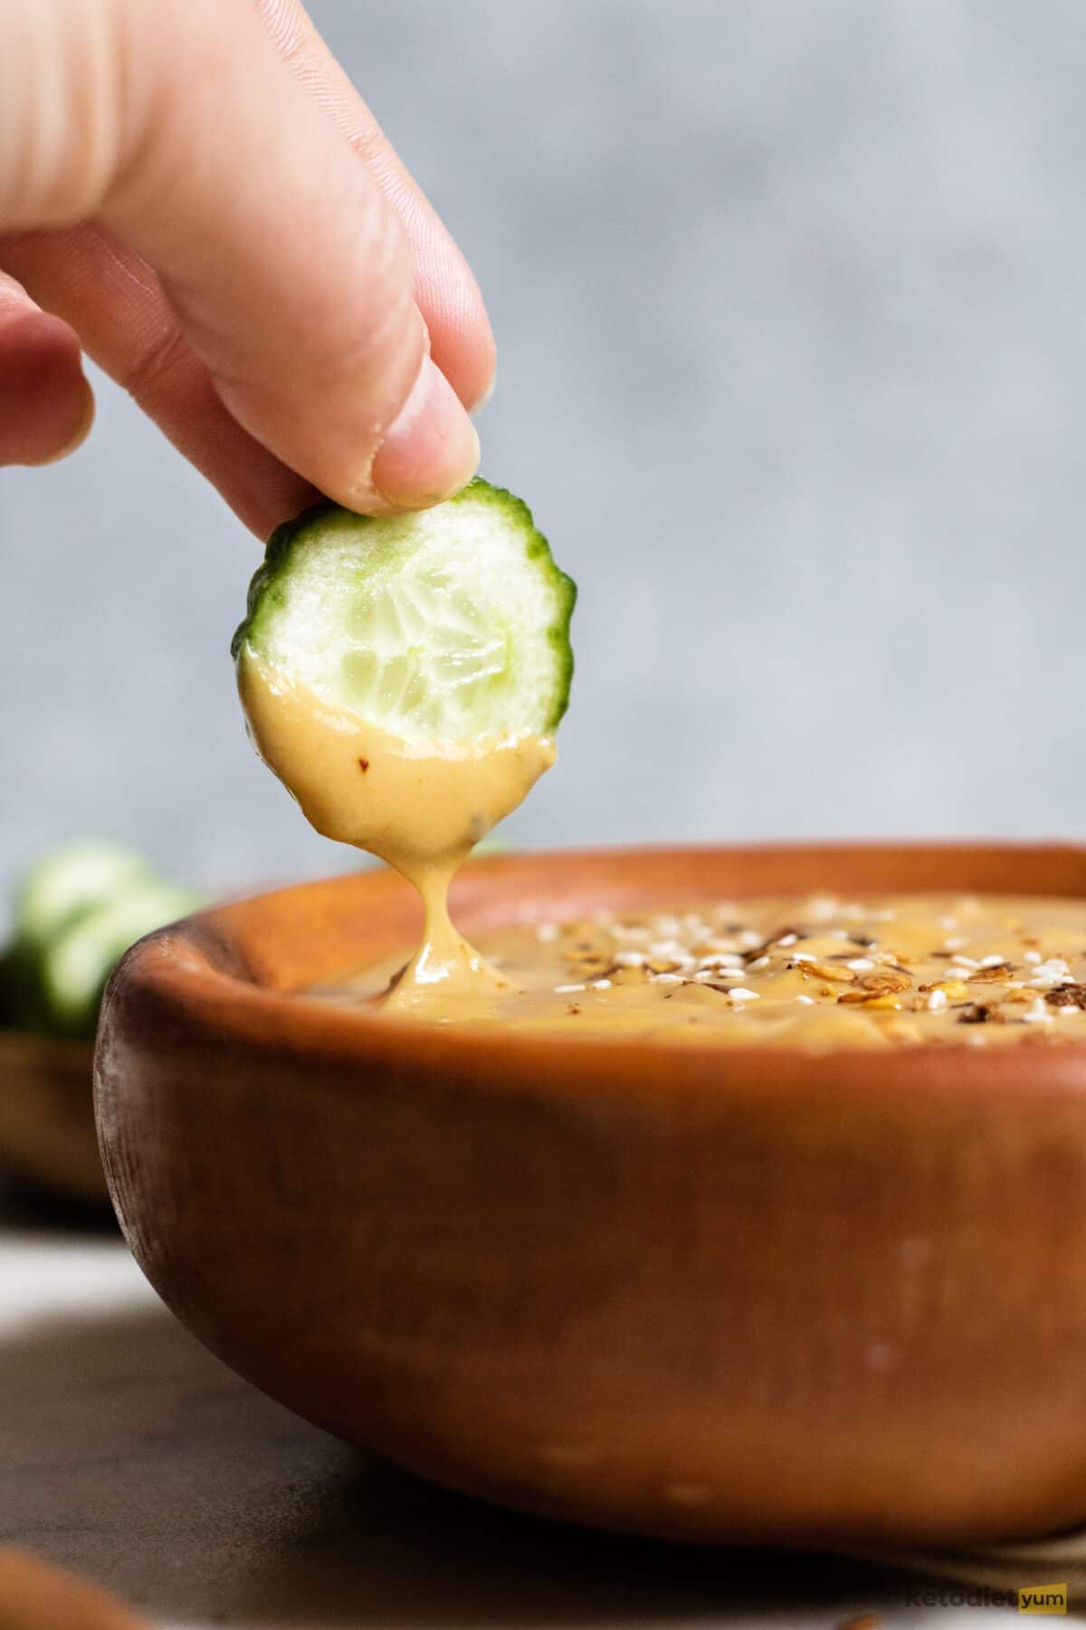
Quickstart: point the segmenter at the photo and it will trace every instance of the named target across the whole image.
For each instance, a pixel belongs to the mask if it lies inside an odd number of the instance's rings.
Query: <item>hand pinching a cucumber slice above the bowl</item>
[[[0,465],[86,352],[265,535],[474,473],[475,282],[296,0],[0,0]]]

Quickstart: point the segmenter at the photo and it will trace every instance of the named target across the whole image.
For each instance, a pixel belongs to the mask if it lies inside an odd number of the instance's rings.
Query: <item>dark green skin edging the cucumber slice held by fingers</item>
[[[521,559],[531,562],[539,580],[547,585],[547,626],[537,631],[537,636],[549,647],[547,686],[539,717],[532,719],[532,729],[539,735],[550,735],[558,727],[570,701],[570,683],[573,678],[570,619],[576,600],[576,585],[555,566],[550,546],[537,530],[531,510],[511,492],[495,487],[477,476],[454,499],[438,505],[438,510],[456,512],[458,507],[466,512],[464,559],[469,557],[467,553],[471,549],[469,512],[472,507],[482,507],[484,513],[488,512],[490,517],[500,522],[508,546],[511,549],[523,549]],[[423,510],[418,517],[420,523],[425,526],[427,517],[433,517],[435,513],[435,510]],[[234,660],[243,660],[246,649],[261,655],[274,644],[272,626],[290,608],[296,579],[301,574],[304,551],[311,544],[316,546],[319,536],[327,535],[329,522],[335,523],[337,530],[340,530],[342,523],[348,523],[352,548],[355,548],[357,540],[357,553],[365,564],[366,551],[373,551],[373,559],[378,562],[383,556],[388,556],[389,548],[396,546],[389,540],[404,540],[412,520],[414,517],[394,517],[389,522],[381,517],[355,515],[335,504],[319,504],[278,526],[269,540],[264,564],[249,585],[247,615],[231,642]],[[342,530],[347,530],[347,526],[344,525]],[[511,556],[511,561],[515,561],[515,556]],[[521,570],[519,566],[516,569]]]

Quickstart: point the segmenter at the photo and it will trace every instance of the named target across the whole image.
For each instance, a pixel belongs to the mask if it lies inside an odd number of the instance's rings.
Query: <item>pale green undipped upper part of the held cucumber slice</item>
[[[528,505],[477,478],[415,515],[280,526],[231,650],[414,750],[467,748],[557,729],[575,597]]]

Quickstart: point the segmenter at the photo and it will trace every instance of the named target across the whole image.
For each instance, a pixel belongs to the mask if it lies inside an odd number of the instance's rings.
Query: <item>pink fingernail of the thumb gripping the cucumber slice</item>
[[[384,434],[370,479],[394,509],[425,509],[459,492],[477,468],[475,425],[427,355],[410,396]]]

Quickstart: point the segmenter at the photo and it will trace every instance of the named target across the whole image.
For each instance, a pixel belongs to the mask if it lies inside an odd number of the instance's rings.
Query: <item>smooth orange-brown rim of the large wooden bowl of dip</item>
[[[970,856],[998,854],[1013,861],[1016,856],[1044,856],[1053,862],[1086,867],[1086,846],[1049,841],[961,841],[925,839],[918,843],[865,841],[850,843],[760,843],[760,844],[689,844],[689,846],[638,846],[599,849],[528,851],[524,854],[495,856],[472,862],[474,877],[492,880],[503,888],[505,896],[516,898],[518,872],[537,870],[554,864],[558,879],[567,870],[601,861],[620,859],[624,866],[659,862],[676,857],[687,862],[749,854],[782,856],[856,854],[858,859],[876,854],[925,854]],[[212,906],[195,916],[184,918],[171,927],[160,929],[140,941],[124,958],[111,981],[106,1009],[120,989],[135,986],[140,998],[148,999],[164,1017],[186,1030],[200,1032],[208,1045],[238,1046],[259,1053],[290,1055],[313,1063],[358,1063],[379,1068],[383,1063],[414,1066],[435,1076],[464,1076],[488,1079],[495,1086],[503,1073],[516,1077],[547,1076],[560,1087],[573,1082],[575,1090],[591,1079],[598,1087],[611,1086],[628,1092],[638,1082],[658,1090],[661,1064],[668,1064],[668,1077],[689,1084],[702,1082],[720,1092],[725,1082],[742,1081],[747,1089],[760,1084],[764,1090],[780,1092],[793,1086],[827,1087],[837,1095],[861,1092],[882,1094],[892,1086],[912,1089],[933,1087],[959,1092],[992,1094],[1000,1087],[1018,1095],[1026,1086],[1036,1092],[1036,1077],[1044,1074],[1045,1097],[1050,1092],[1081,1095],[1086,1092],[1086,1042],[1060,1042],[1053,1046],[1023,1045],[983,1048],[962,1040],[939,1043],[915,1043],[910,1046],[848,1046],[808,1051],[793,1046],[726,1046],[713,1042],[682,1042],[672,1046],[666,1040],[612,1038],[607,1035],[545,1035],[508,1032],[493,1027],[427,1025],[410,1019],[368,1014],[358,1009],[339,1007],[334,1002],[300,1001],[293,991],[272,989],[256,983],[243,970],[231,971],[223,963],[236,945],[234,924],[246,911],[262,901],[304,901],[321,890],[350,887],[388,888],[386,869],[293,883],[269,890],[239,901]],[[396,879],[396,887],[407,883]],[[952,887],[952,885],[948,885]],[[729,890],[742,898],[741,890]],[[782,890],[786,892],[786,890]],[[884,890],[879,890],[884,892]],[[902,888],[902,893],[935,892],[926,888]],[[969,893],[995,893],[993,888],[969,887]],[[1013,887],[1005,890],[1014,893]],[[1055,896],[1055,892],[1049,892]],[[1084,890],[1086,895],[1086,890]],[[1068,898],[1076,890],[1066,890]],[[560,898],[560,895],[557,895]],[[218,965],[217,965],[218,962]],[[107,1027],[103,1027],[106,1030]],[[99,1035],[103,1033],[99,1030]],[[878,1060],[879,1068],[873,1069]],[[933,1068],[939,1061],[944,1068]],[[713,1068],[707,1068],[712,1064]]]

